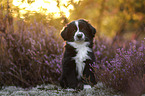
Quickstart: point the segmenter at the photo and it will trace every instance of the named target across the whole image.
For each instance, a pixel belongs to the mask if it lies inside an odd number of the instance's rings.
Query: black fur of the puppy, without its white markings
[[[88,47],[92,49],[93,47],[93,37],[95,36],[96,30],[85,20],[78,20],[79,29],[85,34],[85,41],[89,42]],[[62,88],[74,88],[83,89],[84,84],[94,85],[97,83],[94,70],[90,65],[95,62],[95,55],[92,52],[87,52],[87,55],[91,59],[86,59],[83,61],[85,63],[85,68],[83,70],[83,77],[81,79],[77,78],[76,62],[73,57],[76,56],[76,48],[68,44],[68,42],[74,42],[74,34],[77,28],[75,21],[69,23],[64,30],[61,32],[62,38],[66,41],[65,51],[62,60],[62,74],[60,79],[60,85]],[[92,71],[90,71],[92,70]]]

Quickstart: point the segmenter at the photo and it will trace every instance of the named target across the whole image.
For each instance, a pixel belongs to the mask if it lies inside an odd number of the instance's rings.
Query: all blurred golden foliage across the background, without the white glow
[[[145,36],[145,0],[80,0],[77,3],[75,0],[69,0],[64,5],[60,4],[61,0],[55,0],[60,11],[59,18],[55,18],[52,13],[46,15],[36,11],[27,11],[22,18],[20,9],[12,4],[13,0],[0,1],[0,22],[5,22],[5,24],[0,23],[2,32],[6,29],[6,22],[11,25],[15,23],[14,19],[23,19],[29,24],[32,21],[49,23],[49,25],[61,29],[69,21],[83,18],[89,20],[96,27],[98,35],[109,36],[114,38],[114,41],[124,36],[132,39]],[[22,2],[24,1],[22,0]],[[27,1],[29,4],[35,2],[35,0]],[[72,5],[74,10],[70,11],[70,17],[67,18],[61,6],[68,8],[69,5]],[[41,11],[45,12],[47,9],[41,8]],[[131,35],[128,36],[128,34]]]

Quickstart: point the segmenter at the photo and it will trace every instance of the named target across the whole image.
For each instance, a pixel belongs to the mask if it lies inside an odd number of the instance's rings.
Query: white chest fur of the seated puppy
[[[91,59],[88,56],[88,52],[92,52],[92,49],[88,47],[89,42],[68,42],[68,44],[76,48],[77,54],[72,59],[74,59],[76,62],[76,70],[78,72],[77,78],[80,79],[85,68],[84,61],[86,59]]]

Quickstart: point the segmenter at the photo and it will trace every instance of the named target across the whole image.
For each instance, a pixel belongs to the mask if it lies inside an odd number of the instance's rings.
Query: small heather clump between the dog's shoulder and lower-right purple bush
[[[115,50],[118,46],[112,46],[104,37],[96,38],[94,40],[94,53],[97,64],[105,63],[115,57]]]

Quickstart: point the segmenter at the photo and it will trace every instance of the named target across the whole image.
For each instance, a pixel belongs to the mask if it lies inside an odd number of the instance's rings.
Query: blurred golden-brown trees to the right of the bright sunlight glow
[[[134,33],[139,37],[145,34],[144,17],[145,0],[83,0],[74,5],[70,20],[89,20],[99,35],[116,37]]]

